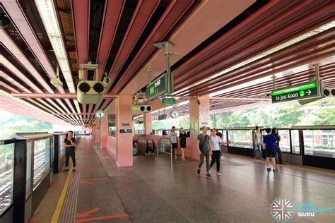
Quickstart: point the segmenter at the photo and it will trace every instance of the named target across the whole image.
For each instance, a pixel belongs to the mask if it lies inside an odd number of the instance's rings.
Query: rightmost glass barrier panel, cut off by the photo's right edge
[[[304,130],[305,155],[335,157],[335,130]]]

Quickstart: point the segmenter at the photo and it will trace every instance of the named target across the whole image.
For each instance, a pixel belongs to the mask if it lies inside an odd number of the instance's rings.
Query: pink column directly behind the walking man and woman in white
[[[200,104],[199,104],[200,102]],[[187,156],[193,159],[199,159],[197,147],[197,138],[202,126],[209,127],[209,96],[204,95],[199,97],[199,102],[197,98],[189,100],[189,128],[191,132],[191,137],[188,140],[187,147],[192,147],[192,150],[187,150]],[[208,131],[209,135],[209,131]]]

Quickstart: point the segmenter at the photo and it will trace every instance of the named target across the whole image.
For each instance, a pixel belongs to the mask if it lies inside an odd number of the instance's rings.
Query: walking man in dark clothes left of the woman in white
[[[200,156],[200,162],[198,169],[196,172],[200,175],[200,170],[202,164],[204,164],[204,158],[206,157],[206,177],[211,178],[211,174],[209,174],[209,156],[212,155],[211,147],[209,145],[209,135],[207,135],[207,128],[203,126],[202,133],[198,135],[198,153]]]

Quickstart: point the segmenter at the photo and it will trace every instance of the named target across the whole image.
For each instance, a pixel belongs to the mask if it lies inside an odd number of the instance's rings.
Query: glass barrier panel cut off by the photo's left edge
[[[13,204],[15,144],[0,145],[0,215]]]

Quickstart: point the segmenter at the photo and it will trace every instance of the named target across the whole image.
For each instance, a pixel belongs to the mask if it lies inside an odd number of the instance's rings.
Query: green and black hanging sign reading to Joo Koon
[[[318,97],[317,83],[309,83],[271,92],[272,103],[303,100],[310,97]]]

